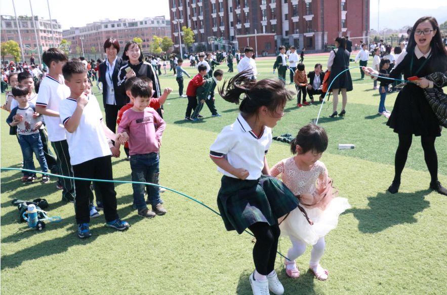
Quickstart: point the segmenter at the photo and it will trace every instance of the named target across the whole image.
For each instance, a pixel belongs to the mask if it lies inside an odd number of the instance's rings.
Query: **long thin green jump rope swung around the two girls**
[[[328,89],[331,89],[332,83],[338,78],[338,76],[340,76],[342,73],[344,73],[344,72],[346,72],[346,71],[349,71],[350,69],[355,69],[355,68],[361,68],[361,66],[350,67],[350,68],[347,68],[347,69],[341,71],[338,75],[336,75],[336,76],[334,77],[334,79],[333,79],[332,82],[330,83]],[[379,77],[378,75],[374,75],[374,74],[370,74],[370,75],[371,75],[371,76],[374,76],[374,77]],[[408,80],[394,79],[394,78],[389,78],[389,77],[381,77],[381,78],[385,78],[385,79],[389,79],[389,80],[398,81],[398,82],[400,82],[400,83],[408,83],[408,82],[412,82],[412,81],[408,81]],[[280,79],[280,80],[283,80],[283,81],[286,81],[286,80],[283,79],[282,77],[279,77],[279,79]],[[318,118],[319,118],[319,116],[320,116],[321,109],[322,109],[323,104],[324,104],[324,100],[326,99],[326,97],[328,96],[328,94],[329,94],[329,91],[326,93],[326,95],[324,95],[323,101],[322,101],[321,106],[320,106],[320,109],[319,109],[319,111],[318,111],[318,116],[317,116],[317,118],[316,118],[316,120],[315,120],[315,124],[318,123]],[[2,171],[22,171],[22,172],[25,171],[25,172],[30,172],[30,173],[33,173],[33,174],[45,174],[45,175],[48,175],[48,176],[54,176],[54,177],[57,177],[57,178],[65,178],[65,179],[81,180],[81,181],[96,181],[96,182],[130,183],[130,184],[150,185],[150,186],[154,186],[154,187],[158,187],[158,188],[164,188],[164,189],[167,189],[167,190],[172,191],[172,192],[174,192],[174,193],[176,193],[176,194],[179,194],[179,195],[181,195],[181,196],[183,196],[183,197],[185,197],[185,198],[188,198],[188,199],[190,199],[190,200],[192,200],[192,201],[194,201],[194,202],[196,202],[196,203],[198,203],[198,204],[200,204],[200,205],[206,207],[207,209],[211,210],[213,213],[215,213],[216,215],[218,215],[218,216],[221,217],[220,213],[217,212],[215,209],[211,208],[211,207],[208,206],[207,204],[205,204],[205,203],[203,203],[203,202],[201,202],[201,201],[199,201],[199,200],[197,200],[197,199],[195,199],[195,198],[193,198],[193,197],[191,197],[191,196],[188,196],[187,194],[184,194],[184,193],[182,193],[182,192],[179,192],[179,191],[177,191],[177,190],[175,190],[175,189],[172,189],[172,188],[169,188],[169,187],[165,187],[165,186],[161,186],[161,185],[153,184],[153,183],[149,183],[149,182],[78,178],[78,177],[62,176],[62,175],[57,175],[57,174],[52,174],[52,173],[43,173],[43,172],[41,172],[41,171],[35,171],[35,170],[29,170],[29,169],[23,169],[23,168],[11,168],[11,167],[0,167],[0,172],[2,172]],[[251,236],[254,237],[253,233],[249,232],[248,230],[244,230],[244,231],[245,231],[246,233],[248,233],[249,235],[251,235]],[[286,256],[282,255],[281,252],[276,251],[276,253],[277,253],[279,256],[281,256],[282,258],[285,258],[286,260],[290,261],[290,259],[288,259]]]

